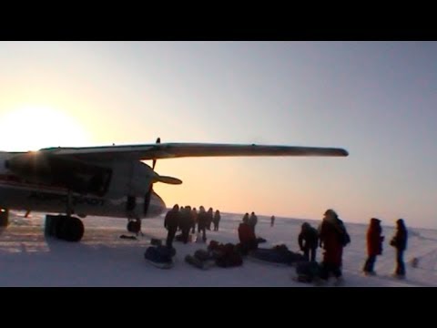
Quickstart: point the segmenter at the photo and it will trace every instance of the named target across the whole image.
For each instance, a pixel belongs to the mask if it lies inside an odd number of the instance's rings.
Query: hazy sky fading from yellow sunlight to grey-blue
[[[2,42],[0,149],[161,142],[347,158],[162,159],[174,203],[437,229],[435,42]]]

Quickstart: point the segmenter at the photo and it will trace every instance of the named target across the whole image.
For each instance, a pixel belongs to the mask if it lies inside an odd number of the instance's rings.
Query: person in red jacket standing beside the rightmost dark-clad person
[[[382,254],[382,241],[384,237],[381,236],[381,220],[371,218],[369,229],[367,230],[367,255],[368,258],[364,263],[362,271],[366,275],[375,275],[374,271],[376,256]]]

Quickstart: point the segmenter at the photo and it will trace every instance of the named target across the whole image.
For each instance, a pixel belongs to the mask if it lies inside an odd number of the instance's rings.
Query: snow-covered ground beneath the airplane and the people
[[[237,242],[237,228],[242,215],[222,213],[219,231],[207,231],[208,240]],[[120,239],[127,220],[87,217],[86,232],[79,243],[44,237],[44,215],[33,213],[28,219],[22,212],[11,212],[11,224],[0,231],[0,286],[287,286],[308,287],[294,282],[295,268],[245,260],[238,268],[198,270],[184,261],[204,244],[182,244],[177,241],[175,266],[160,270],[144,260],[151,238],[165,240],[163,217],[143,221],[144,236],[137,241]],[[320,221],[309,221],[317,226]],[[269,218],[259,216],[257,234],[268,242],[262,247],[285,243],[298,251],[298,234],[302,220],[277,218],[270,227]],[[383,227],[386,236],[383,254],[375,270],[378,276],[364,277],[361,268],[366,257],[367,225],[345,222],[351,244],[343,256],[344,286],[437,286],[437,231],[409,228],[405,253],[407,279],[391,278],[395,258],[388,245],[392,227]],[[408,221],[406,222],[408,228]],[[412,268],[412,258],[419,259]],[[321,259],[318,250],[317,260]],[[330,284],[329,284],[330,285]]]

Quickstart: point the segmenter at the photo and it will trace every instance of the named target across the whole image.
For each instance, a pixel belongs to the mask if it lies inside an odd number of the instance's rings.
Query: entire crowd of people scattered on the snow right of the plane
[[[275,217],[270,218],[270,226],[274,225]],[[172,210],[169,210],[164,226],[168,230],[167,246],[172,247],[172,242],[178,230],[181,232],[181,239],[184,243],[188,242],[189,231],[202,233],[202,240],[207,241],[206,230],[211,230],[213,223],[214,231],[219,231],[220,212],[213,212],[212,208],[208,211],[203,206],[191,209],[190,206],[179,209],[176,204]],[[258,223],[258,217],[255,212],[244,214],[242,222],[239,224],[239,242],[242,251],[245,253],[258,248],[258,241],[255,229]],[[403,253],[407,248],[408,233],[405,223],[402,219],[396,221],[397,230],[390,245],[396,249],[396,269],[394,275],[398,278],[405,276],[405,264]],[[371,218],[367,231],[367,253],[368,257],[364,263],[362,271],[366,275],[374,275],[374,265],[376,257],[382,254],[382,236],[381,220]],[[317,249],[320,247],[324,250],[323,259],[320,263],[320,279],[327,280],[330,275],[342,280],[342,255],[343,248],[351,242],[351,237],[346,230],[342,220],[340,220],[335,210],[326,210],[323,220],[318,229],[310,226],[310,223],[304,222],[301,225],[301,231],[298,238],[300,251],[303,252],[306,261],[316,261]]]

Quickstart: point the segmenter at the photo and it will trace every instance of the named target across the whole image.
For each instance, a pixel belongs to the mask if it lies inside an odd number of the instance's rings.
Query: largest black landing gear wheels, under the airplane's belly
[[[80,241],[84,236],[82,220],[67,215],[46,215],[46,236],[63,241]]]

